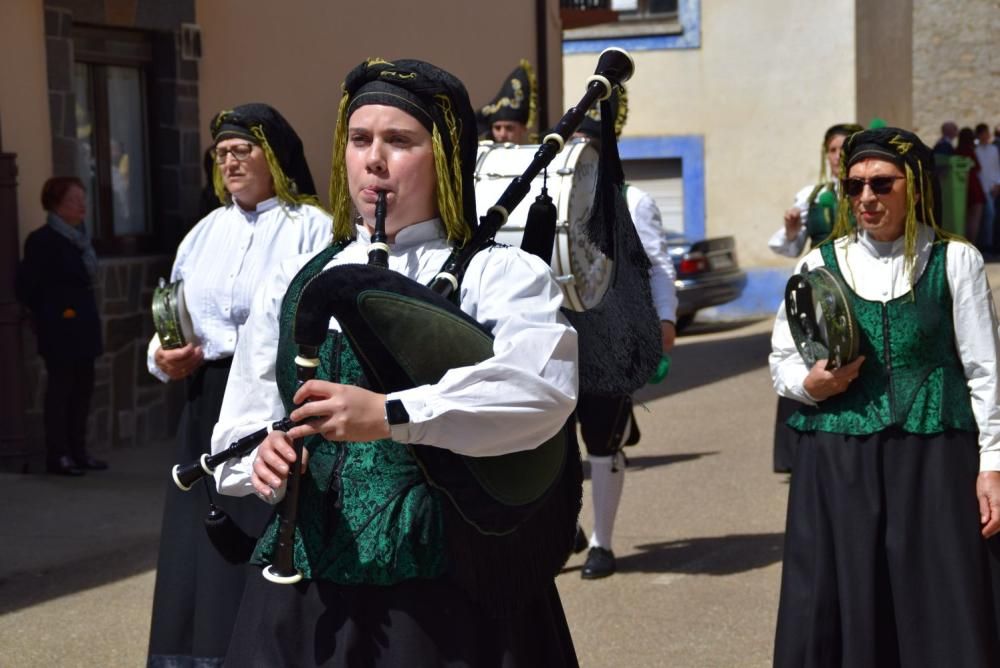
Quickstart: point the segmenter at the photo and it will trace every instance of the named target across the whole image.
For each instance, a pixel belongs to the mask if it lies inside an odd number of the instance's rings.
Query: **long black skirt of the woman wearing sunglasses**
[[[976,434],[803,433],[778,667],[1000,666]]]

